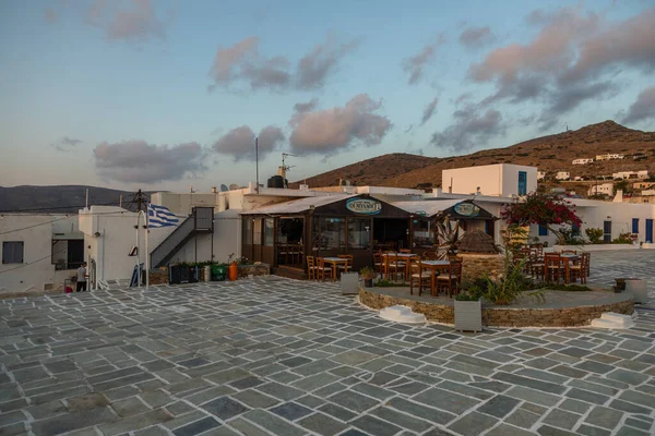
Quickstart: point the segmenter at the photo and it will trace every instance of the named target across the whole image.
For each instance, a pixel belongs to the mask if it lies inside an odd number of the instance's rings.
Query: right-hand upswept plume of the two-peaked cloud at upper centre
[[[325,78],[336,70],[338,62],[358,46],[358,40],[337,44],[333,37],[329,37],[325,44],[317,45],[311,52],[298,61],[298,88],[317,89],[323,87]]]

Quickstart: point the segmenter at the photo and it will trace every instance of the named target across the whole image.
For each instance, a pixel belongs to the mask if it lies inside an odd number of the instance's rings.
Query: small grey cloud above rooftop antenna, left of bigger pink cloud
[[[258,135],[258,148],[260,157],[273,152],[285,136],[282,130],[269,125],[260,131]],[[212,148],[214,152],[230,155],[235,161],[254,160],[254,132],[248,125],[233,129],[216,141]]]

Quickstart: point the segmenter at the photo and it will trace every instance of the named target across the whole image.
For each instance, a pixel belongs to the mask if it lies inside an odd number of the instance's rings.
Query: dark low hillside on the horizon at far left
[[[86,190],[88,189],[90,205],[118,206],[122,194],[124,208],[135,210],[130,205],[133,192],[110,190],[107,187],[84,185],[53,185],[53,186],[0,186],[0,213],[5,211],[34,211],[76,214],[85,205]]]

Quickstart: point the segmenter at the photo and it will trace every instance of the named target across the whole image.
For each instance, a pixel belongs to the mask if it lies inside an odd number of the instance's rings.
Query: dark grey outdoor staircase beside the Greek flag
[[[194,207],[191,216],[152,251],[151,267],[158,268],[166,265],[198,233],[214,233],[213,207]]]

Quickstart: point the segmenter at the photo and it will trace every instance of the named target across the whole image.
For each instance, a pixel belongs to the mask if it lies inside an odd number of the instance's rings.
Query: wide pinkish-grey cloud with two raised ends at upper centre
[[[259,51],[260,38],[250,36],[231,47],[218,47],[210,69],[213,82],[210,88],[239,88],[245,85],[251,90],[318,89],[324,86],[327,77],[337,70],[338,62],[358,44],[356,40],[337,44],[335,38],[329,37],[302,57],[296,71],[291,71],[291,63],[286,57],[263,56]]]

